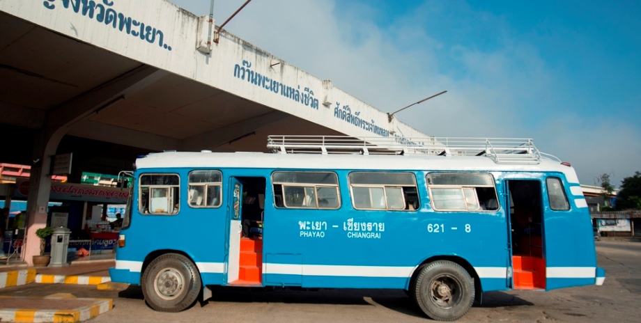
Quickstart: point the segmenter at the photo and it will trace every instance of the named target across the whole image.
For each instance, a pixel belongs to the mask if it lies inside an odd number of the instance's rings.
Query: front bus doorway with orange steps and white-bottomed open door
[[[231,178],[227,283],[261,285],[265,178]]]

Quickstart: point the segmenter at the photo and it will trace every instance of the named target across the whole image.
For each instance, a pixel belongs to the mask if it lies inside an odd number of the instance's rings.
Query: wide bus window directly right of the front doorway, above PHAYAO
[[[272,183],[276,207],[337,209],[341,205],[336,173],[276,171]]]

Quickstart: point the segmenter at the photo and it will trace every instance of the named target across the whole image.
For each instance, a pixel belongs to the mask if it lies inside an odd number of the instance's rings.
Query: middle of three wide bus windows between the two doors
[[[417,208],[416,178],[412,173],[352,172],[349,183],[357,210]]]

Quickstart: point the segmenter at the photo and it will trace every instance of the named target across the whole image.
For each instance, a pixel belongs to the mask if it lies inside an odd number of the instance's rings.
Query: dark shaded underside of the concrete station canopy
[[[59,153],[107,173],[151,151],[266,151],[266,134],[337,134],[7,13],[0,28],[2,162],[31,164],[34,132],[56,123],[74,123]]]

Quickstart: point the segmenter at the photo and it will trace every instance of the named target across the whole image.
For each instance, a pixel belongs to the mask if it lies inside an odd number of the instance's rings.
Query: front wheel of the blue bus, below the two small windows
[[[154,310],[180,312],[196,302],[202,283],[191,260],[184,255],[167,253],[147,266],[141,287],[145,301]]]

